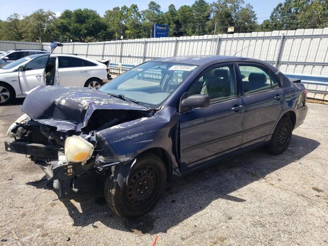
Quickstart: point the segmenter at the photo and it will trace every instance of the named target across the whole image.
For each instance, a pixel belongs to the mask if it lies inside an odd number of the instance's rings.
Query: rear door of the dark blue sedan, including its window
[[[245,119],[241,148],[262,144],[282,111],[284,93],[278,79],[259,64],[239,64]]]

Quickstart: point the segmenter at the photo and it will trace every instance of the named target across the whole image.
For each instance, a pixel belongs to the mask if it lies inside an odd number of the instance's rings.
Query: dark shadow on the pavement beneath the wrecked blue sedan
[[[163,198],[154,210],[137,219],[124,219],[110,211],[101,192],[72,193],[60,199],[73,219],[73,226],[85,227],[102,222],[115,230],[137,234],[167,232],[183,220],[200,212],[217,199],[244,202],[242,197],[230,195],[250,183],[265,179],[268,174],[299,160],[315,150],[316,140],[293,135],[290,148],[282,155],[274,156],[264,148],[222,161],[209,168],[194,172],[185,178],[168,184]],[[46,180],[28,183],[37,188],[49,189]]]

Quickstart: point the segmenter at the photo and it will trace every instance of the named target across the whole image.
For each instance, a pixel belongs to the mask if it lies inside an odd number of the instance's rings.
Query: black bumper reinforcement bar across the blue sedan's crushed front
[[[59,147],[42,144],[29,144],[23,141],[5,141],[5,150],[8,152],[32,155],[39,157],[58,158]]]

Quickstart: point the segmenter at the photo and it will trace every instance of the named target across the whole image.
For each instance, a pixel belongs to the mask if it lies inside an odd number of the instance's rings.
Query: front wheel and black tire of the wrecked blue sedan
[[[161,198],[167,181],[164,163],[154,154],[137,158],[130,170],[128,185],[122,188],[108,174],[105,182],[105,199],[110,209],[124,218],[147,214]]]

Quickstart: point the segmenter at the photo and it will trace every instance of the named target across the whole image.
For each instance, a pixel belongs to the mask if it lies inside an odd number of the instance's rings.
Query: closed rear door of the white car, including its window
[[[88,70],[83,67],[83,59],[58,56],[58,77],[60,86],[83,87],[88,77]]]

